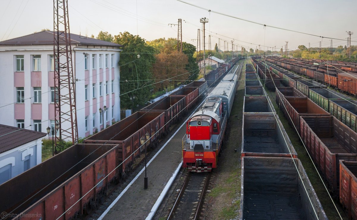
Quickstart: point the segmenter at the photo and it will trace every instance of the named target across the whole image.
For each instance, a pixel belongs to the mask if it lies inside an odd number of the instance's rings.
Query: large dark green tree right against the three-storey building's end
[[[114,43],[124,46],[119,61],[121,108],[143,105],[151,98],[150,84],[154,83],[152,64],[156,62],[155,48],[147,45],[145,39],[127,31],[115,35]],[[140,55],[140,58],[137,55]],[[135,99],[130,100],[132,96],[135,96]]]

